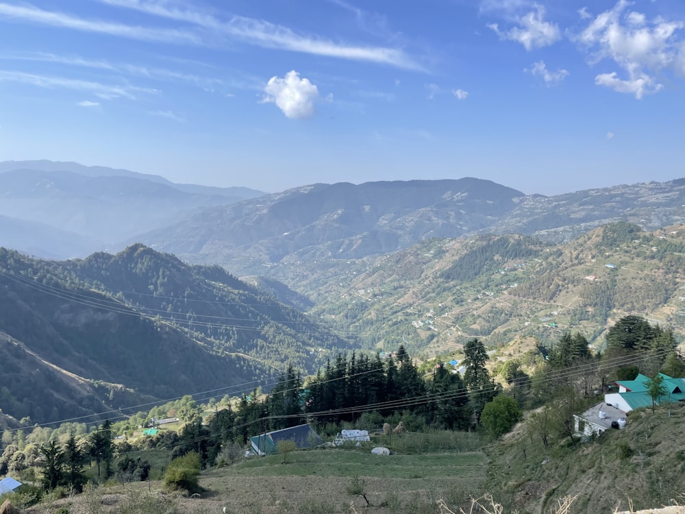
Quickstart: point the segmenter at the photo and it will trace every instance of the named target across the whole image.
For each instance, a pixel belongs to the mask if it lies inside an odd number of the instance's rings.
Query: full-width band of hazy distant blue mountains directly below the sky
[[[264,195],[71,162],[0,162],[0,245],[73,258],[142,242],[238,275],[380,255],[434,237],[520,233],[561,242],[621,220],[654,230],[685,219],[684,205],[684,180],[554,197],[475,178],[312,184]]]

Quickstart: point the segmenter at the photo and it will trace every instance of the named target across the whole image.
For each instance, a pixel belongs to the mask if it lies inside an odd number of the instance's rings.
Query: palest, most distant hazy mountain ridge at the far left
[[[0,216],[17,220],[17,226],[24,221],[73,233],[46,236],[39,225],[24,223],[24,230],[15,226],[11,236],[0,232],[0,245],[43,257],[85,256],[195,210],[262,194],[248,188],[173,184],[157,175],[75,162],[0,162]]]

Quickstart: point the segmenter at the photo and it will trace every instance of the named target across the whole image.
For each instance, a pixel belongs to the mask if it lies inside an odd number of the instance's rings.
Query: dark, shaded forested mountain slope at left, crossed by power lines
[[[219,267],[191,267],[142,245],[68,262],[0,249],[0,305],[0,330],[23,349],[12,363],[35,355],[90,384],[156,398],[225,393],[288,364],[312,369],[324,349],[347,345]],[[31,376],[30,367],[19,367],[18,376]],[[51,401],[32,383],[0,377],[10,404],[23,404],[39,421]]]

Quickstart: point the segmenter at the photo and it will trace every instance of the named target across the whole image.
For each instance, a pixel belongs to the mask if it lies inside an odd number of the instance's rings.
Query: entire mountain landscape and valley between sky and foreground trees
[[[0,401],[55,419],[52,406],[82,415],[314,371],[337,350],[594,340],[636,310],[682,336],[684,221],[685,180],[556,197],[475,178],[262,195],[0,163],[0,357],[14,370]]]

